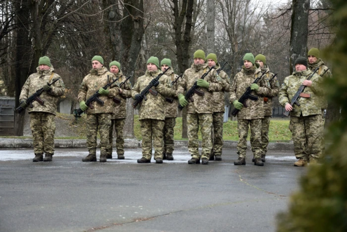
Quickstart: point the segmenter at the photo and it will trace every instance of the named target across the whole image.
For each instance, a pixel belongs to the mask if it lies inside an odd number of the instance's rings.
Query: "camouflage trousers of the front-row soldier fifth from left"
[[[238,143],[237,151],[239,157],[246,157],[248,125],[251,129],[251,147],[255,158],[262,154],[261,146],[261,119],[237,119]]]

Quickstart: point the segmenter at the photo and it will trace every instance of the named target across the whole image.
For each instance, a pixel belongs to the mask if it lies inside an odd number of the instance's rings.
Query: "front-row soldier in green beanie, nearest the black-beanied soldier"
[[[254,165],[263,166],[261,161],[262,145],[261,145],[261,121],[264,118],[263,98],[259,97],[258,100],[246,100],[248,107],[244,108],[239,99],[244,93],[245,89],[250,86],[253,90],[253,95],[268,95],[270,92],[269,81],[262,77],[258,84],[253,83],[254,79],[261,76],[261,70],[257,68],[258,64],[252,53],[246,53],[243,57],[243,66],[241,72],[237,73],[231,84],[230,102],[236,109],[240,111],[237,114],[237,131],[238,143],[237,154],[238,159],[234,161],[234,165],[246,164],[246,149],[247,149],[247,136],[248,125],[251,129],[251,146],[254,155]]]

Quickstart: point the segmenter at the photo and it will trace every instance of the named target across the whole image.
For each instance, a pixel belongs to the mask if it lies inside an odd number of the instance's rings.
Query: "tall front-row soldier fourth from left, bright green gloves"
[[[211,71],[204,79],[200,77],[208,71],[208,65],[205,64],[205,52],[197,50],[194,53],[194,63],[190,69],[184,71],[182,80],[178,84],[177,95],[181,106],[187,105],[187,126],[188,126],[188,151],[192,156],[188,160],[189,164],[200,163],[208,164],[212,150],[212,112],[213,100],[212,92],[221,91],[221,77],[217,76],[216,71]],[[188,104],[184,97],[184,91],[190,89],[197,81],[200,87],[199,91],[204,92],[204,96],[193,95],[194,101]],[[198,131],[201,127],[202,153],[199,155]]]

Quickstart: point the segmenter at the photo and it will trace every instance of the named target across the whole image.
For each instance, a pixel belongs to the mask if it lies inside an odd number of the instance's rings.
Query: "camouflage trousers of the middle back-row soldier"
[[[213,132],[215,133],[212,151],[214,155],[222,155],[224,113],[214,112],[212,114],[212,117],[213,117]]]

